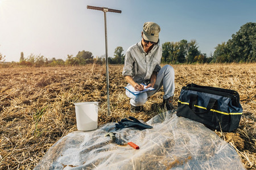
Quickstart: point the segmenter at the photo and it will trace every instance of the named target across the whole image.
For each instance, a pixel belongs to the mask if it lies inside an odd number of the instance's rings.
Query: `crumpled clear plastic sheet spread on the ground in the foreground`
[[[115,131],[115,123],[93,132],[74,131],[49,148],[34,169],[245,169],[232,146],[176,111],[158,114],[147,124],[153,129],[117,130],[116,142],[123,145],[104,137]]]

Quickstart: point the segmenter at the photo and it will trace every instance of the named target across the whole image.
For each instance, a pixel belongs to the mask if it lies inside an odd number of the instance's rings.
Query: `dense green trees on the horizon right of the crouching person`
[[[218,44],[213,55],[201,53],[196,40],[164,42],[163,63],[245,63],[256,62],[256,23],[246,23],[232,39]]]

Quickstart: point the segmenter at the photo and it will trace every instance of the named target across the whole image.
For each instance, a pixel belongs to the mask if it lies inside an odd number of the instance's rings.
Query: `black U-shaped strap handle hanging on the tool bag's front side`
[[[207,110],[204,111],[204,112],[196,112],[195,111],[196,110],[196,108],[195,108],[196,101],[197,101],[197,95],[191,94],[190,100],[189,100],[189,108],[195,114],[205,114],[205,113],[208,113],[210,111],[210,109],[212,109],[214,107],[214,105],[217,104],[217,99],[210,98],[209,103],[207,105]]]

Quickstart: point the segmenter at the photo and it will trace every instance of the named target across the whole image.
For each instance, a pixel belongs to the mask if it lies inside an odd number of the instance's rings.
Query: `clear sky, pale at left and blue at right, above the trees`
[[[19,61],[21,52],[64,60],[82,50],[103,56],[104,12],[87,5],[122,10],[106,13],[109,57],[117,46],[125,53],[140,41],[148,21],[160,25],[160,44],[194,39],[207,56],[256,22],[255,0],[0,0],[0,53],[6,61]]]

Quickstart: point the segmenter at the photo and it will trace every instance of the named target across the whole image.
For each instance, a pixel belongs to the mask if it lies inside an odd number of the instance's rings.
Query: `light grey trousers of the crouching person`
[[[131,86],[128,84],[127,86]],[[163,86],[164,96],[163,99],[168,99],[171,96],[174,96],[175,84],[174,84],[174,68],[170,65],[165,65],[160,69],[158,75],[156,76],[156,82],[154,85],[155,90],[145,92],[143,94],[134,95],[128,90],[126,90],[126,96],[130,100],[130,104],[134,106],[140,106],[146,103],[147,97],[154,95],[160,90]]]

